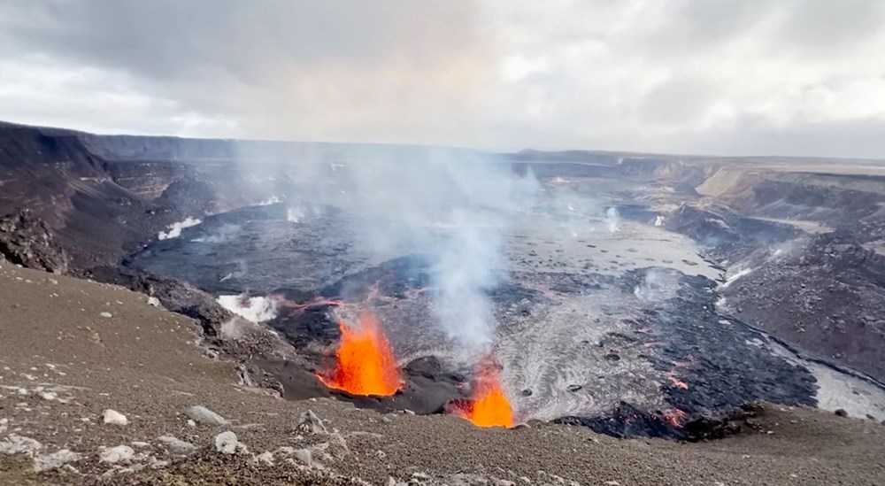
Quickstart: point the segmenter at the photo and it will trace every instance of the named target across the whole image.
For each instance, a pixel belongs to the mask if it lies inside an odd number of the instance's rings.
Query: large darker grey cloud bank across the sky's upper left
[[[254,78],[269,59],[311,66],[420,62],[476,42],[470,2],[407,0],[18,1],[4,8],[8,50],[158,80]]]

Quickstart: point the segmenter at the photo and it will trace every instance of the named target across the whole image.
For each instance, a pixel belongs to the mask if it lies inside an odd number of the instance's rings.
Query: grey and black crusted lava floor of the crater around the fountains
[[[504,279],[488,294],[493,352],[517,420],[681,437],[692,420],[758,399],[885,419],[880,383],[720,315],[725,269],[687,236],[662,228],[653,213],[622,208],[626,219],[612,201],[593,201],[558,197],[550,185],[506,229],[506,258],[496,268]],[[263,297],[225,302],[311,357],[315,367],[306,371],[261,363],[296,389],[289,397],[328,393],[310,372],[330,366],[338,320],[371,308],[409,384],[392,399],[344,398],[441,412],[465,397],[472,370],[437,322],[439,262],[406,240],[377,251],[355,229],[371,224],[354,221],[361,217],[347,204],[255,206],[151,243],[126,264],[216,296]],[[395,230],[390,223],[383,221]],[[449,221],[424,224],[435,238],[457,230]]]

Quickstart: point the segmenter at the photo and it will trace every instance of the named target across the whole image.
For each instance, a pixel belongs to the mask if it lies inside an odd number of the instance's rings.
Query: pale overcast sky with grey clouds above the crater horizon
[[[885,1],[0,0],[0,120],[885,158]]]

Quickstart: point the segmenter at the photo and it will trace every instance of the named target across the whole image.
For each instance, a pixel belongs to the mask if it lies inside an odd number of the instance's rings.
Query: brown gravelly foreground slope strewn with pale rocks
[[[885,425],[804,408],[765,405],[737,436],[677,444],[285,401],[201,347],[193,320],[156,304],[0,262],[0,483],[872,486],[885,478]],[[232,341],[252,331],[235,322],[223,329]]]

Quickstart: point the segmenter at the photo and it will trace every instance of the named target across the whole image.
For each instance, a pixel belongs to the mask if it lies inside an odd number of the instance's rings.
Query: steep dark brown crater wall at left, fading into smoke
[[[0,215],[45,221],[73,268],[115,264],[174,221],[262,197],[228,141],[0,124]]]

